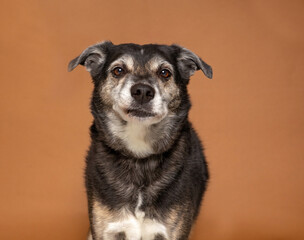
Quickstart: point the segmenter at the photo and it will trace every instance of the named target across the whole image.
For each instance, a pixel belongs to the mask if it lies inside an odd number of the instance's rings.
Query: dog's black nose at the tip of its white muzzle
[[[131,96],[139,104],[150,102],[154,98],[155,91],[147,84],[137,83],[131,87]]]

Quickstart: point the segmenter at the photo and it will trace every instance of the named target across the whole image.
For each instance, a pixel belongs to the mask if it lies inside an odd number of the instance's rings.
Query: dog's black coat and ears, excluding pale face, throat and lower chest
[[[98,49],[103,55],[96,53]],[[140,50],[144,49],[144,54]],[[122,54],[132,55],[139,65],[144,65],[152,55],[160,55],[174,66],[174,81],[180,91],[180,104],[170,109],[170,120],[151,126],[155,132],[154,154],[139,158],[130,152],[120,139],[107,127],[106,112],[113,111],[104,103],[99,89],[107,77],[107,68]],[[129,206],[132,212],[141,192],[143,204],[140,210],[150,219],[165,221],[172,209],[182,209],[179,240],[188,239],[192,223],[196,219],[208,181],[208,170],[200,140],[188,121],[190,100],[187,83],[193,71],[201,69],[212,77],[212,69],[199,57],[177,45],[113,45],[104,42],[86,49],[71,61],[69,70],[78,64],[90,69],[94,90],[91,111],[91,146],[86,158],[85,182],[93,239],[93,199],[110,211]],[[122,124],[127,124],[121,121]],[[117,239],[127,239],[119,233]],[[165,239],[157,234],[155,240]],[[105,239],[107,240],[107,239]],[[144,240],[144,239],[143,239]]]

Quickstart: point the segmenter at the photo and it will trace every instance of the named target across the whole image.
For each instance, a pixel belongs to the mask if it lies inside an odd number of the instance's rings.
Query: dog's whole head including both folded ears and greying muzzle
[[[212,78],[209,65],[178,45],[114,45],[106,41],[85,49],[70,62],[68,70],[79,64],[86,67],[94,82],[94,116],[99,116],[107,133],[120,141],[129,134],[121,133],[127,131],[127,126],[154,128],[154,135],[157,128],[169,131],[165,129],[168,124],[172,128],[174,122],[187,117],[190,102],[186,86],[190,76],[202,70]],[[153,142],[147,134],[143,140]],[[154,145],[150,152],[159,152]]]

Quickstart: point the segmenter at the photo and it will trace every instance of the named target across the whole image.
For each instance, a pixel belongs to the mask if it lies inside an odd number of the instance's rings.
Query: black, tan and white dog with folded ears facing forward
[[[190,76],[212,68],[179,45],[85,49],[94,90],[85,184],[94,240],[186,240],[209,174],[188,121]]]

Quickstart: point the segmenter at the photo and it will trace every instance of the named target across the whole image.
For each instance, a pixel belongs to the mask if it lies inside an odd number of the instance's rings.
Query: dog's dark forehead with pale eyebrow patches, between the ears
[[[157,69],[160,65],[172,65],[172,53],[167,45],[116,45],[110,53],[110,66],[125,64],[129,68],[149,67]]]

